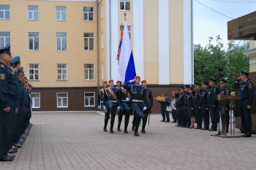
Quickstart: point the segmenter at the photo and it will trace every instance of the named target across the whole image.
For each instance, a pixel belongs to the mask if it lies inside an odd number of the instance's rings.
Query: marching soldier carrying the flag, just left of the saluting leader
[[[121,81],[117,81],[116,82],[116,85],[117,87],[121,88]],[[124,118],[124,133],[127,134],[128,131],[127,131],[127,127],[128,127],[128,124],[129,124],[129,115],[130,115],[130,112],[131,112],[131,104],[130,104],[130,93],[122,88],[122,90],[119,91],[118,93],[118,101],[119,101],[119,104],[118,104],[118,112],[119,112],[119,115],[118,115],[118,126],[117,126],[117,131],[121,131],[121,121],[123,119],[123,115],[125,115],[125,118]]]

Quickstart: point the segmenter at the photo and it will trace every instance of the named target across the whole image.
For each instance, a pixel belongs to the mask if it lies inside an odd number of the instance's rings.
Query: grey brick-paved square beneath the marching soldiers
[[[94,112],[35,113],[15,161],[0,162],[0,169],[256,169],[256,135],[222,139],[154,116],[136,137],[103,132],[103,119]]]

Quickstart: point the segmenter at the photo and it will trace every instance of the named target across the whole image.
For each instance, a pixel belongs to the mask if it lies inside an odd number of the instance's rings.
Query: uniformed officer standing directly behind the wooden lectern
[[[230,95],[230,89],[227,88],[227,80],[225,80],[224,78],[222,78],[219,81],[219,93],[220,94],[225,94],[225,95]],[[230,125],[230,101],[218,101],[219,104],[219,112],[221,115],[221,118],[223,119],[223,113],[222,113],[222,107],[225,106],[225,116],[226,116],[226,131],[228,132],[228,127]],[[222,120],[223,121],[223,120]]]

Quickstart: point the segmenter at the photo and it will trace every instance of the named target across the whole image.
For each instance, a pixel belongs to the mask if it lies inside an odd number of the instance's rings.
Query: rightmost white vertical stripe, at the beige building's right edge
[[[192,84],[194,77],[193,38],[192,38],[192,0],[183,1],[184,27],[184,84]]]

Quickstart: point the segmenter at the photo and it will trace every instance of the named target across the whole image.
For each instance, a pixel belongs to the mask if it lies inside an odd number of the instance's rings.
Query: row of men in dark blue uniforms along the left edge
[[[10,45],[0,49],[0,107],[0,161],[12,161],[31,128],[31,85]]]

